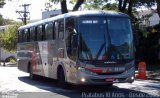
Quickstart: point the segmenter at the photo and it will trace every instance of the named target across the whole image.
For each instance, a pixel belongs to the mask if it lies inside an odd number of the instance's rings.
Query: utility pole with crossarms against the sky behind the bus
[[[29,16],[30,12],[28,11],[28,7],[30,5],[31,4],[20,5],[20,7],[24,8],[23,11],[16,11],[16,13],[19,14],[19,18],[18,19],[21,19],[25,25],[27,24],[27,20],[29,20],[28,16]]]

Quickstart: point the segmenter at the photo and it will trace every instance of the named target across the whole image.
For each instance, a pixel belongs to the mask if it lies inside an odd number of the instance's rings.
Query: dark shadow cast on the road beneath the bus
[[[45,96],[45,98],[51,98],[51,97],[55,98],[56,96],[59,96],[59,95],[60,96],[58,98],[61,98],[61,97],[70,97],[70,98],[158,98],[158,97],[151,96],[141,91],[132,90],[132,88],[125,89],[125,88],[119,88],[117,86],[107,87],[106,85],[81,86],[81,87],[69,85],[68,88],[63,89],[57,85],[55,80],[44,78],[44,77],[38,77],[36,80],[30,80],[29,77],[18,77],[18,79],[22,82],[35,86],[39,89],[51,92],[48,94],[42,93],[42,92],[39,92],[39,93],[31,92],[33,96],[35,94],[40,95],[40,96],[45,95],[45,94],[47,95],[50,94],[49,97]],[[30,98],[32,98],[31,93],[29,94]],[[27,96],[26,98],[29,98],[29,96]]]

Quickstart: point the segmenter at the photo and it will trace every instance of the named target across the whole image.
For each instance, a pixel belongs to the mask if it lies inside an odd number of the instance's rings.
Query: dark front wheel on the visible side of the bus
[[[58,85],[62,88],[66,88],[65,76],[62,68],[58,70]]]

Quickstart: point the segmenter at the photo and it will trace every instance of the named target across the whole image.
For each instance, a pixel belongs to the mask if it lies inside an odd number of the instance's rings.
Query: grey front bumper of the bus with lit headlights
[[[96,75],[84,71],[78,71],[77,84],[82,85],[103,85],[112,83],[132,83],[134,82],[135,70],[129,70],[118,75]],[[108,81],[108,79],[112,79]]]

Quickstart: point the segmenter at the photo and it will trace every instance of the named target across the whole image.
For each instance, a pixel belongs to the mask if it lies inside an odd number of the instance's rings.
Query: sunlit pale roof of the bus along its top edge
[[[121,12],[115,12],[115,11],[74,11],[74,12],[69,12],[66,14],[62,14],[62,15],[57,15],[48,19],[44,19],[44,20],[40,20],[38,22],[34,22],[34,23],[29,23],[27,25],[21,26],[18,29],[25,29],[28,28],[30,26],[37,26],[40,24],[44,24],[50,21],[54,21],[57,19],[62,19],[62,18],[67,18],[67,17],[79,17],[79,16],[107,16],[107,17],[126,17],[129,18],[129,16],[127,14],[121,13]]]

